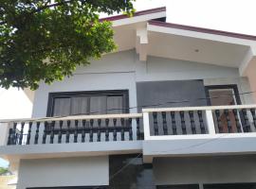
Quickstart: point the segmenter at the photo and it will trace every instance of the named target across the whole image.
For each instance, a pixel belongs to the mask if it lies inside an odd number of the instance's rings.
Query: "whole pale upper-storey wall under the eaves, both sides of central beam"
[[[203,79],[206,85],[237,84],[240,93],[249,92],[247,78],[239,77],[238,68],[204,63],[148,57],[139,61],[134,50],[105,55],[90,65],[77,69],[73,77],[52,85],[41,84],[36,91],[32,117],[46,116],[48,93],[129,90],[130,107],[137,106],[137,81]],[[252,102],[251,94],[241,96],[244,104]],[[130,112],[137,112],[131,109]]]

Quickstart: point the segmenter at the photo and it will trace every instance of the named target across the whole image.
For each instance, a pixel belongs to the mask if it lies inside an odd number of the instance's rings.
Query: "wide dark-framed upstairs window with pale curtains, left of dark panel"
[[[129,112],[128,91],[51,93],[47,116]]]

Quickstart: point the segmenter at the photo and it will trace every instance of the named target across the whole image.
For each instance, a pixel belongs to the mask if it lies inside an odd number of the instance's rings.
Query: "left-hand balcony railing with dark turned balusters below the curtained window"
[[[141,140],[141,118],[142,113],[130,113],[11,120],[7,143],[13,146]]]

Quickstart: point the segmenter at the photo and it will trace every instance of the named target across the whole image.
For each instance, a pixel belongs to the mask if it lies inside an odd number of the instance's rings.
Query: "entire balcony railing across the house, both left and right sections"
[[[256,131],[256,105],[144,109],[142,113],[2,120],[2,145],[175,139]],[[1,128],[4,126],[1,125]],[[3,134],[5,135],[5,134]],[[1,142],[2,140],[2,142]]]

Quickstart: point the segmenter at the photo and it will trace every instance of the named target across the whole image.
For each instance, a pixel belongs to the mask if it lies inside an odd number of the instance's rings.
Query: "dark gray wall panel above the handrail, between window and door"
[[[137,82],[137,105],[149,107],[206,106],[203,80]],[[189,102],[184,102],[184,101]],[[167,103],[170,102],[170,103]],[[174,103],[171,103],[174,102]],[[158,105],[161,104],[161,105]],[[141,111],[141,108],[138,109]]]

